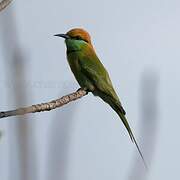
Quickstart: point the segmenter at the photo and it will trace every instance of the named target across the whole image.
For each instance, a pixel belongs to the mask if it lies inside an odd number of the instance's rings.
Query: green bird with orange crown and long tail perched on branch
[[[126,112],[113,87],[109,73],[96,55],[89,33],[82,28],[73,28],[65,34],[55,34],[65,39],[66,55],[72,73],[81,89],[99,96],[118,114],[147,168],[143,154],[126,118]]]

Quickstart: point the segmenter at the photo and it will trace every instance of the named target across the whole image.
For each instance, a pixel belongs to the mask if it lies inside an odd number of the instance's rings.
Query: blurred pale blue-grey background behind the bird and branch
[[[51,112],[1,119],[0,179],[180,178],[179,7],[178,0],[14,0],[0,12],[0,111],[79,88],[53,35],[83,27],[149,166],[118,116],[89,94]]]

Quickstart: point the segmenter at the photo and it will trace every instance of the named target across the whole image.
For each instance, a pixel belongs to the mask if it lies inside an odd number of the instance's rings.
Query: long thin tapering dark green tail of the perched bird
[[[116,105],[114,105],[114,104],[115,103],[109,103],[109,105],[116,111],[116,113],[119,115],[120,119],[122,120],[124,126],[126,127],[128,133],[129,133],[129,136],[130,136],[132,142],[136,145],[136,148],[137,148],[137,150],[138,150],[138,152],[139,152],[139,154],[140,154],[140,156],[142,158],[142,161],[144,163],[145,168],[148,169],[146,161],[145,161],[145,159],[143,157],[143,154],[142,154],[142,152],[141,152],[141,150],[140,150],[140,148],[138,146],[138,143],[137,143],[137,141],[136,141],[136,139],[135,139],[135,137],[134,137],[134,135],[132,133],[132,130],[131,130],[130,126],[129,126],[129,123],[128,123],[127,119],[126,119],[126,116],[125,116],[126,113],[125,113],[123,107],[121,106],[120,103],[117,103]]]

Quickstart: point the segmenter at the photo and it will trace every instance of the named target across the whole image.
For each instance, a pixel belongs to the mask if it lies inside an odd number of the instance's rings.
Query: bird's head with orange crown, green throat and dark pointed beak
[[[69,51],[81,50],[82,47],[91,46],[91,37],[87,31],[81,28],[74,28],[66,34],[56,34],[55,36],[65,39]]]

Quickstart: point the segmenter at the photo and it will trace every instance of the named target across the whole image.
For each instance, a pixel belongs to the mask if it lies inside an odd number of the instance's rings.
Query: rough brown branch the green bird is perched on
[[[87,91],[79,89],[78,91],[76,91],[72,94],[68,94],[59,99],[56,99],[56,100],[53,100],[53,101],[50,101],[47,103],[41,103],[41,104],[23,107],[23,108],[11,110],[11,111],[0,112],[0,118],[24,115],[24,114],[28,114],[28,113],[36,113],[36,112],[42,112],[42,111],[50,111],[50,110],[56,109],[58,107],[61,107],[65,104],[68,104],[71,101],[75,101],[85,95],[87,95]]]

